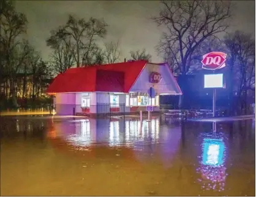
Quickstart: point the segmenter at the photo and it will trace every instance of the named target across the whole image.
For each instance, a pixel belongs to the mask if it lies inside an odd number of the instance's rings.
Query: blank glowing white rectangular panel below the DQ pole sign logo
[[[205,88],[223,88],[223,74],[205,74]]]

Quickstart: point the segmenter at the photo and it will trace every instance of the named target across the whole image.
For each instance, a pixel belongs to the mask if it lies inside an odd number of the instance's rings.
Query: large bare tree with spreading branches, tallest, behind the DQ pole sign
[[[159,16],[153,20],[167,30],[163,32],[157,52],[175,63],[178,74],[186,75],[195,49],[206,38],[227,29],[231,4],[228,1],[194,0],[162,1],[162,5]],[[182,98],[180,96],[179,107],[182,107]]]

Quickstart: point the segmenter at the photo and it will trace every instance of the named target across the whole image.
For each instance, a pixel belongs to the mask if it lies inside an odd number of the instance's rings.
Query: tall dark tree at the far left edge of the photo
[[[27,19],[23,13],[18,13],[14,9],[12,1],[1,2],[1,51],[4,59],[4,71],[10,77],[10,92],[12,94],[13,106],[17,107],[15,93],[15,74],[18,67],[27,55],[27,50],[20,52],[18,49],[21,42],[19,35],[26,33]],[[24,45],[26,48],[27,45]]]

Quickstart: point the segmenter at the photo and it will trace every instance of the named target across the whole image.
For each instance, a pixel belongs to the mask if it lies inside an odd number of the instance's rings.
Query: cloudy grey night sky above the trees
[[[255,34],[255,1],[235,1],[233,23],[228,32],[243,30]],[[152,54],[152,62],[161,62],[154,47],[162,28],[150,20],[159,13],[160,1],[16,1],[18,12],[26,14],[27,38],[44,60],[51,49],[45,40],[51,29],[65,24],[69,14],[86,18],[104,18],[108,34],[104,41],[120,40],[121,57],[129,59],[130,50],[146,48]]]

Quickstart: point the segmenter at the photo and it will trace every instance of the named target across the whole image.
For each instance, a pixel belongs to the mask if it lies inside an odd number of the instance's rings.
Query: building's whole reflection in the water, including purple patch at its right
[[[159,118],[151,122],[109,119],[70,120],[56,125],[58,131],[61,131],[59,137],[72,145],[73,149],[96,152],[100,147],[108,149],[126,147],[134,151],[135,158],[140,162],[146,162],[160,155],[162,164],[166,168],[171,166],[171,159],[178,151],[181,140],[180,126],[165,126],[160,132]],[[72,129],[75,129],[75,132]],[[161,144],[159,149],[156,149],[158,143]]]

